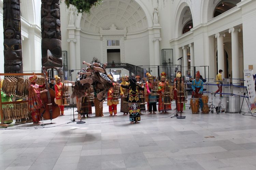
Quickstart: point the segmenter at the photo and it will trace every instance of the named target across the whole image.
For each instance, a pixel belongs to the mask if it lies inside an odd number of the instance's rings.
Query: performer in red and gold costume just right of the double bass
[[[55,103],[58,104],[59,108],[60,108],[60,114],[61,116],[64,116],[64,106],[61,105],[61,100],[62,100],[62,96],[63,96],[63,83],[60,82],[60,77],[58,77],[58,75],[54,76],[55,78]]]

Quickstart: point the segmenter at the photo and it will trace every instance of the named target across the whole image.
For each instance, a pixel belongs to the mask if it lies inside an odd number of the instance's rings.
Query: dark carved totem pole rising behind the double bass
[[[63,77],[60,32],[60,1],[41,0],[42,66]]]

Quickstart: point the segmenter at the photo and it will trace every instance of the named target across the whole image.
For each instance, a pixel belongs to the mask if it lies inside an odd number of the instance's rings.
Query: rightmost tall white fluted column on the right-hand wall
[[[241,31],[240,28],[230,28],[231,33],[231,45],[232,45],[232,83],[238,84],[240,81],[234,80],[239,79],[239,47],[238,47],[238,33]]]

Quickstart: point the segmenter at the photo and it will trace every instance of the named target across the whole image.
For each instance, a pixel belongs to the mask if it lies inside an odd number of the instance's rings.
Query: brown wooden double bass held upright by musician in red
[[[55,98],[55,91],[48,87],[48,82],[46,81],[46,71],[45,67],[43,67],[44,71],[44,79],[45,79],[45,85],[47,89],[47,93],[41,93],[40,97],[43,101],[43,106],[40,109],[40,113],[43,115],[43,118],[46,120],[52,120],[59,116],[60,114],[60,108],[59,106],[54,102]]]

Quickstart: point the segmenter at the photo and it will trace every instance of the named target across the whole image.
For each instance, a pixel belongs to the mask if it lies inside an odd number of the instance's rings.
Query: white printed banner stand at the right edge
[[[248,99],[250,102],[251,113],[256,112],[256,93],[255,93],[255,84],[253,81],[253,70],[243,70],[244,71],[244,85],[246,86],[246,91],[248,93]],[[244,94],[246,96],[246,94]],[[247,102],[247,101],[246,101]]]

